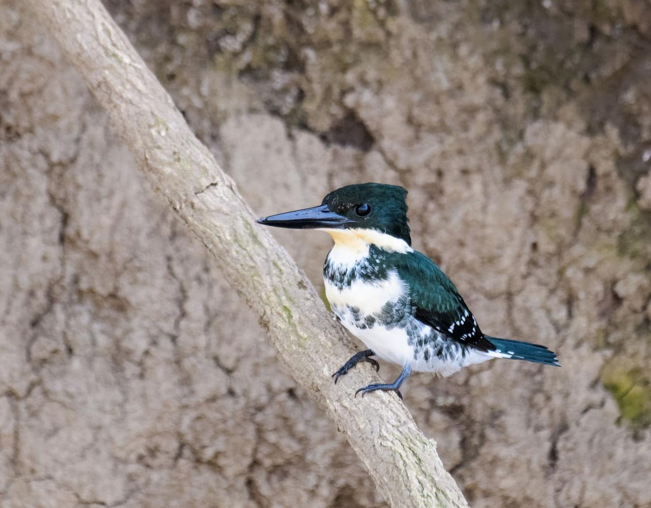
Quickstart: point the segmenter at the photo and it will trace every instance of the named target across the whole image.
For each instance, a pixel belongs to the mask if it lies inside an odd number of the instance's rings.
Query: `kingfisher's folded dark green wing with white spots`
[[[475,317],[445,273],[420,252],[396,255],[398,275],[409,286],[415,318],[448,338],[492,351]]]

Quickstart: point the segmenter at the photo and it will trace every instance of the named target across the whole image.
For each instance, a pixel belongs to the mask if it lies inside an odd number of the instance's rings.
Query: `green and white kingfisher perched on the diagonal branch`
[[[317,229],[335,245],[324,264],[326,297],[337,320],[368,347],[333,374],[335,383],[372,358],[402,367],[396,381],[355,392],[393,390],[411,371],[449,376],[491,358],[559,366],[545,346],[484,335],[454,284],[411,248],[407,191],[397,185],[361,183],[333,191],[320,206],[258,219],[278,228]]]

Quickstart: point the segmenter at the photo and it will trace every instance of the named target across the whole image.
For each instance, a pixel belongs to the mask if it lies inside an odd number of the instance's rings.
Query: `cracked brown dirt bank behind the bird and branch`
[[[260,215],[404,185],[482,329],[559,353],[409,379],[471,505],[651,507],[647,1],[106,5]],[[277,237],[320,287],[329,239]],[[0,505],[384,506],[17,0]]]

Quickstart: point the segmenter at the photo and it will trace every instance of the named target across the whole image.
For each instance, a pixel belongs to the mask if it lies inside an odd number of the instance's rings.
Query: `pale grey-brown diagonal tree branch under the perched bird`
[[[370,369],[333,384],[352,353],[314,287],[197,140],[98,0],[25,0],[88,82],[138,167],[253,308],[292,375],[344,432],[393,507],[465,507],[436,444],[393,394],[353,398]]]

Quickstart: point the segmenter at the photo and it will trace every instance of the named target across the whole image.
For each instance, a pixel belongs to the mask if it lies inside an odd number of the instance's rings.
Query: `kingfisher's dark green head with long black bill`
[[[327,194],[322,204],[258,219],[258,224],[331,233],[377,232],[411,245],[407,224],[407,191],[398,185],[359,183]],[[333,236],[335,236],[333,234]]]

